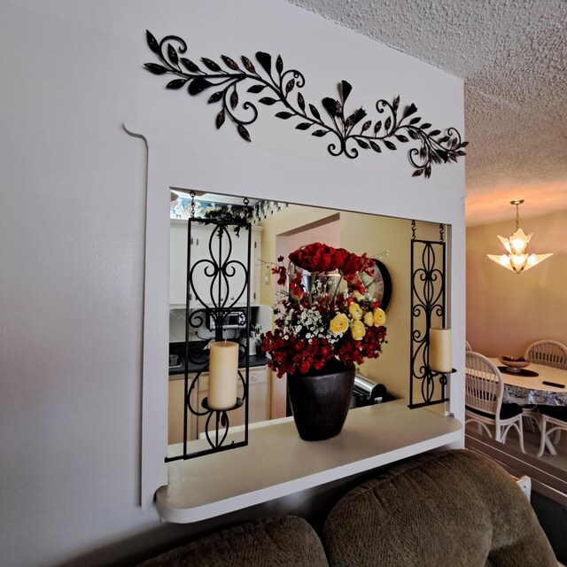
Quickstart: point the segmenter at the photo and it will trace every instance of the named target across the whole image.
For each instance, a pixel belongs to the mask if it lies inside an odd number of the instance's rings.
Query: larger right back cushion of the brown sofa
[[[423,454],[353,488],[322,539],[333,567],[557,564],[516,482],[467,450]]]

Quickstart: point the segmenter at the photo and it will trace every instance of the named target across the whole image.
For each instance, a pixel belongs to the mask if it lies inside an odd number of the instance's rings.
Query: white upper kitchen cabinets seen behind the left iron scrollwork
[[[171,309],[183,308],[186,304],[186,285],[187,285],[187,223],[179,219],[172,219],[170,224],[170,245],[169,245],[169,307]],[[191,264],[194,266],[198,260],[210,258],[209,241],[214,230],[214,225],[199,225],[193,223],[191,227],[190,252]],[[252,227],[251,238],[251,266],[248,284],[250,285],[250,302],[252,306],[260,304],[260,257],[261,257],[261,228]],[[240,237],[236,237],[233,232],[230,233],[232,241],[231,260],[237,260],[246,265],[248,260],[248,241],[247,234],[242,231]],[[242,290],[245,286],[244,271],[238,269],[234,276],[230,278],[231,295],[227,305],[233,307],[245,307],[246,291],[240,298],[237,298],[237,290]],[[212,306],[211,299],[211,279],[206,277],[204,270],[206,264],[200,264],[194,272],[193,284],[198,296],[203,299],[207,306]],[[226,283],[221,282],[221,298],[226,294]],[[216,292],[216,290],[214,291]],[[193,290],[191,290],[190,300],[195,300]],[[221,299],[223,300],[223,299]]]

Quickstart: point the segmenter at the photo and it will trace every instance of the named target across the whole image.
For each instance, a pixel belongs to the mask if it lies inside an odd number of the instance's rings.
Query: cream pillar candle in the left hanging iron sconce
[[[211,409],[230,409],[237,405],[238,343],[222,341],[209,346],[209,387],[207,403]]]

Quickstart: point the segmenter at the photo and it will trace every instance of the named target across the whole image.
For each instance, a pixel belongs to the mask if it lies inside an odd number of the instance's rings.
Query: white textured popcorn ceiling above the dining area
[[[467,224],[567,208],[567,0],[289,0],[464,79]]]

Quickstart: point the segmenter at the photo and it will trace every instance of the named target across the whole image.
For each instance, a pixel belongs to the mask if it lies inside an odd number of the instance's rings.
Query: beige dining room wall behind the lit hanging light
[[[520,216],[524,232],[533,232],[528,252],[554,252],[520,275],[486,258],[505,252],[496,235],[509,237],[515,231],[513,217],[467,229],[467,339],[473,350],[519,356],[540,338],[567,344],[566,226],[567,211]]]

